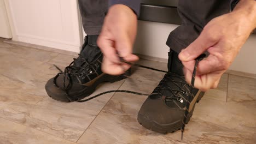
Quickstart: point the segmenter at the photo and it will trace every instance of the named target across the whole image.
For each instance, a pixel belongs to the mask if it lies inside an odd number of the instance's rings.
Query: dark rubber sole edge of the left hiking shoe
[[[131,75],[130,70],[126,71],[126,73],[124,73],[123,75],[119,75],[119,76],[112,76],[112,75],[105,74],[101,77],[101,79],[98,79],[90,87],[86,87],[85,89],[83,89],[81,91],[81,93],[79,95],[75,95],[75,97],[72,97],[72,98],[67,97],[67,94],[65,94],[65,97],[64,97],[63,94],[56,94],[51,91],[48,91],[47,86],[45,86],[45,89],[46,89],[46,93],[49,95],[50,98],[57,100],[57,101],[62,101],[62,102],[68,103],[68,102],[77,101],[77,100],[84,99],[85,97],[88,97],[89,95],[91,95],[92,93],[95,92],[97,86],[100,85],[100,83],[103,83],[103,82],[114,83],[114,82],[126,79],[127,76],[130,76],[130,75]]]

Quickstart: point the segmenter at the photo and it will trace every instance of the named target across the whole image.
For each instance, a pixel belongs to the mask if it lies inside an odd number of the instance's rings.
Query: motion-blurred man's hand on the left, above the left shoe
[[[102,32],[97,44],[103,52],[102,71],[111,75],[120,75],[130,68],[129,64],[120,63],[120,57],[128,62],[138,61],[132,55],[132,46],[137,33],[137,16],[122,4],[109,8],[104,20]]]

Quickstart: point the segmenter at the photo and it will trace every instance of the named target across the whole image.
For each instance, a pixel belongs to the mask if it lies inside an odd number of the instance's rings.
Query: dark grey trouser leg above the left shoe
[[[108,11],[108,0],[78,0],[78,4],[85,33],[100,34]]]

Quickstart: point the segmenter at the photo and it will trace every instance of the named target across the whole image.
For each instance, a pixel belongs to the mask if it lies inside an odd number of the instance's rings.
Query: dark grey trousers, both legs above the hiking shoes
[[[108,11],[108,1],[78,0],[78,2],[85,33],[100,34],[104,16]],[[170,33],[166,44],[176,52],[181,51],[199,36],[210,20],[229,13],[229,3],[230,0],[179,0],[178,13],[182,25]]]

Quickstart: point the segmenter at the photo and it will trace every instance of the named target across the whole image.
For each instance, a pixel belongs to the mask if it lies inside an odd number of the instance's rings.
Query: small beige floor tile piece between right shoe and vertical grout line
[[[203,97],[226,101],[227,92],[228,92],[228,74],[223,74],[222,78],[219,81],[219,85],[216,89],[210,89],[205,93]]]

